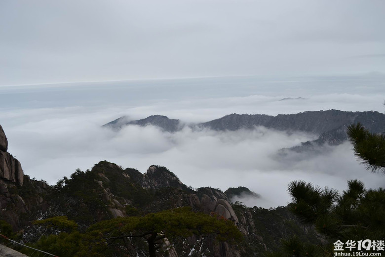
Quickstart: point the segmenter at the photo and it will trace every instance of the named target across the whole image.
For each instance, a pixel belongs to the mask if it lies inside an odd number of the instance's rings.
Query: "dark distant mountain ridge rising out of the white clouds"
[[[209,122],[189,125],[192,129],[204,128],[218,131],[236,131],[238,129],[254,129],[263,126],[268,129],[303,131],[318,135],[318,139],[303,143],[295,147],[301,151],[303,147],[311,145],[339,145],[346,141],[346,128],[350,124],[361,123],[373,133],[383,133],[385,128],[385,115],[377,111],[346,112],[339,110],[307,111],[297,114],[278,114],[270,116],[266,114],[230,114]],[[180,120],[169,119],[166,116],[152,115],[146,119],[127,121],[127,117],[120,117],[107,123],[104,127],[121,129],[124,126],[152,125],[167,132],[176,132],[184,128]]]

